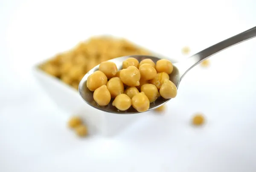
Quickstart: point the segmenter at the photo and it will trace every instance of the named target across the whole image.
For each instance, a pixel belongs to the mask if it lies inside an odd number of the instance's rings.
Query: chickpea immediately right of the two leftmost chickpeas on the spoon
[[[111,94],[111,98],[124,93],[124,84],[119,77],[112,77],[107,83],[108,91]]]

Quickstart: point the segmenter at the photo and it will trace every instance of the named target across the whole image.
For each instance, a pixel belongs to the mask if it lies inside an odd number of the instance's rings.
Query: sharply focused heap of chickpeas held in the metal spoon
[[[172,63],[166,59],[154,63],[151,59],[139,62],[129,57],[119,71],[115,63],[105,61],[87,78],[87,88],[99,106],[107,106],[113,99],[112,105],[120,111],[132,106],[138,112],[145,112],[160,96],[176,97],[177,88],[169,80],[172,71]]]

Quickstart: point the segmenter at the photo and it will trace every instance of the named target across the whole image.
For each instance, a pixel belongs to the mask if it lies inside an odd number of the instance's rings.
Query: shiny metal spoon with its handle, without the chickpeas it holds
[[[256,27],[253,27],[245,32],[242,32],[240,34],[237,34],[233,37],[230,37],[226,40],[221,41],[220,43],[217,43],[213,46],[210,46],[207,49],[202,50],[201,52],[198,52],[191,57],[188,57],[186,60],[179,62],[179,63],[173,63],[173,72],[169,75],[170,80],[176,85],[178,88],[181,79],[183,76],[194,66],[201,63],[201,61],[207,59],[208,57],[221,52],[224,49],[227,49],[231,46],[234,46],[238,43],[244,42],[246,40],[249,40],[253,37],[256,37]],[[153,56],[147,56],[147,55],[130,55],[130,56],[124,56],[124,57],[117,57],[108,61],[114,62],[118,68],[118,70],[122,69],[122,62],[125,61],[129,57],[136,58],[139,62],[145,58],[150,58],[155,63],[157,60],[160,60],[159,57],[153,57]],[[84,101],[89,104],[90,106],[99,109],[104,112],[110,112],[110,113],[116,113],[116,114],[135,114],[135,113],[141,113],[137,112],[132,106],[127,111],[119,111],[116,109],[116,107],[112,106],[113,100],[108,104],[108,106],[102,107],[98,106],[96,102],[93,100],[93,92],[91,92],[87,86],[87,78],[93,74],[93,72],[99,70],[99,65],[95,66],[93,69],[91,69],[79,83],[79,94],[84,99]],[[162,106],[163,104],[167,103],[171,99],[164,99],[163,97],[159,97],[154,103],[150,103],[150,107],[148,110],[156,109],[159,106]],[[93,114],[92,114],[93,115]]]

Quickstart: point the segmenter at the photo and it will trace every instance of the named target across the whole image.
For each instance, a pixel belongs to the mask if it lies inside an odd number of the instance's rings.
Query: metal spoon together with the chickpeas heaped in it
[[[198,63],[253,37],[256,37],[256,27],[173,64],[144,55],[111,59],[84,75],[79,83],[79,94],[87,104],[105,112],[146,112],[175,98],[181,79]]]

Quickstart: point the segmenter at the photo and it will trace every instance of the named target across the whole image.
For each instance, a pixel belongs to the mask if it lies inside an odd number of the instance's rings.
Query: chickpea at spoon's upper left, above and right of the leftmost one
[[[100,63],[99,71],[103,72],[108,77],[108,79],[110,79],[110,78],[116,76],[117,67],[114,62],[105,61],[105,62]]]

